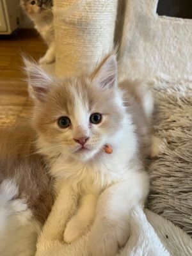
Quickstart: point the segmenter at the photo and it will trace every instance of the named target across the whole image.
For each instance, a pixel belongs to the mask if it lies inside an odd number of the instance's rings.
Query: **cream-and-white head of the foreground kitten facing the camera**
[[[125,116],[115,55],[108,56],[92,76],[70,78],[51,77],[24,61],[35,96],[33,123],[42,152],[81,161],[103,152]]]

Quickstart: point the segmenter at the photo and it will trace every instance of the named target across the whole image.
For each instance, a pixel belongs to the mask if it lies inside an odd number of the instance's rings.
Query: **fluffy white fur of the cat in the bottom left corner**
[[[32,256],[41,225],[24,200],[14,199],[18,188],[13,180],[0,185],[0,255]]]

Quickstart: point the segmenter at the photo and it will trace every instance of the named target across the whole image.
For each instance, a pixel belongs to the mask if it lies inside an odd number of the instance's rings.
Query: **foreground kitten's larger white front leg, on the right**
[[[144,204],[148,194],[147,174],[133,173],[130,180],[106,189],[97,203],[88,248],[92,256],[115,256],[129,238],[130,210]]]

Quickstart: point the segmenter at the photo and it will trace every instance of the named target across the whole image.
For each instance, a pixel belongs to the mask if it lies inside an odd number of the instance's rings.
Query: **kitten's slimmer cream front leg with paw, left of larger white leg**
[[[95,218],[96,204],[97,197],[95,195],[82,196],[77,214],[67,223],[65,229],[64,240],[67,243],[72,243],[89,230]]]

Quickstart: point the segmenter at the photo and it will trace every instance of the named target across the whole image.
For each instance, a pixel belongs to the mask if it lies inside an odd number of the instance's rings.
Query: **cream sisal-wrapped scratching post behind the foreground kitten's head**
[[[56,74],[92,72],[113,49],[118,0],[54,0]]]

